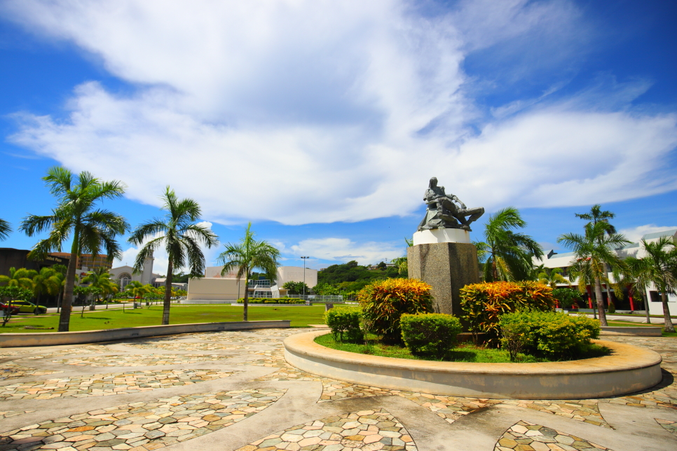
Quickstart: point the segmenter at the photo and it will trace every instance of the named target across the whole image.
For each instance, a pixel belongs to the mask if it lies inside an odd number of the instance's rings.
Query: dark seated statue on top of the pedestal
[[[425,211],[425,218],[418,224],[418,231],[460,228],[470,232],[470,223],[477,221],[484,214],[483,207],[468,208],[455,195],[444,193],[444,186],[437,186],[437,177],[430,179],[423,200],[428,209]]]

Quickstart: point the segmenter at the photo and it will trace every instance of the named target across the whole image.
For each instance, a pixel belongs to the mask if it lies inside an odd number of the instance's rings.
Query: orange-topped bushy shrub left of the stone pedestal
[[[365,328],[381,335],[383,342],[401,343],[399,317],[432,312],[430,290],[430,285],[416,279],[386,279],[365,286],[357,293]]]

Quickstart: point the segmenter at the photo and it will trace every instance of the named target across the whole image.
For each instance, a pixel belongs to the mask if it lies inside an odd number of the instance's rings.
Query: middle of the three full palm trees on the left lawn
[[[203,275],[205,272],[205,256],[200,244],[214,247],[218,244],[217,235],[204,225],[195,221],[200,218],[200,205],[192,199],[178,200],[177,195],[169,186],[160,197],[166,211],[164,218],[154,218],[153,221],[139,225],[129,239],[131,244],[140,246],[149,237],[160,234],[144,244],[139,250],[134,269],[142,270],[146,258],[152,256],[153,251],[164,244],[169,264],[165,279],[165,302],[162,314],[162,324],[169,324],[170,303],[172,299],[172,275],[174,270],[183,268],[188,263],[191,276]]]

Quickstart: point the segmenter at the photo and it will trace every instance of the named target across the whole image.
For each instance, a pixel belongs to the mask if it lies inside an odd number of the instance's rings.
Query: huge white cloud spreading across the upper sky
[[[433,175],[489,211],[677,188],[664,164],[677,145],[677,116],[635,113],[632,90],[611,90],[620,100],[606,109],[589,102],[599,92],[549,105],[525,99],[477,123],[475,81],[460,69],[468,52],[520,37],[569,55],[580,13],[568,1],[515,0],[500,11],[463,2],[432,18],[396,0],[359,8],[21,0],[4,12],[76,43],[137,87],[121,95],[83,83],[65,120],[18,116],[13,141],[122,179],[128,197],[148,204],[170,181],[211,221],[409,214]]]

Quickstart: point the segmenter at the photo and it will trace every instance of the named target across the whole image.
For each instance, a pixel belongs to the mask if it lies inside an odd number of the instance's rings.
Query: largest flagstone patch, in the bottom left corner
[[[203,436],[256,415],[284,390],[219,391],[131,403],[0,433],[0,450],[157,450]]]

